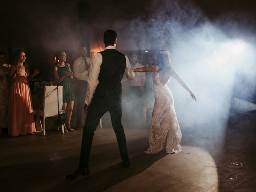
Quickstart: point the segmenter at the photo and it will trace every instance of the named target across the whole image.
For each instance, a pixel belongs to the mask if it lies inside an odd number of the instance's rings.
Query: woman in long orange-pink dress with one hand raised
[[[8,80],[11,83],[8,134],[10,136],[33,134],[36,128],[28,79],[36,76],[40,71],[35,69],[29,76],[26,55],[22,50],[14,53],[14,59],[14,65],[11,66],[8,74]]]

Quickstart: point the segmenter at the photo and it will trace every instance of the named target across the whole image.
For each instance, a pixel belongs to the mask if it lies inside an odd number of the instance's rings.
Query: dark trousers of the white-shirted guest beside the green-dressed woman
[[[84,100],[86,98],[87,81],[77,80],[76,82],[76,125],[81,124],[82,111],[84,108]]]

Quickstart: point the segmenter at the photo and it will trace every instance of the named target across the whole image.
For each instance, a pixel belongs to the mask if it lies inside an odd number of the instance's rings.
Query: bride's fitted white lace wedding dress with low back
[[[149,148],[146,154],[156,154],[162,150],[166,153],[181,152],[182,134],[173,105],[172,93],[167,84],[162,85],[159,72],[153,74],[155,105],[150,127]]]

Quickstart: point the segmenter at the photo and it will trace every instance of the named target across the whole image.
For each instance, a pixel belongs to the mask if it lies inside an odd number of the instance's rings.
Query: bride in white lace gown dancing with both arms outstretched
[[[180,141],[182,134],[174,110],[172,93],[167,86],[170,76],[175,78],[196,101],[196,96],[170,64],[169,56],[170,53],[168,51],[161,50],[156,55],[157,65],[133,69],[134,72],[154,72],[153,89],[155,104],[148,139],[149,148],[145,151],[146,154],[156,154],[164,149],[166,153],[181,152]]]

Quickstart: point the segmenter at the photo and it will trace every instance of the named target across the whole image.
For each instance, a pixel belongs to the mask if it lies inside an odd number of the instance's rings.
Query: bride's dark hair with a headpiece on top
[[[163,52],[166,52],[166,54]],[[169,53],[168,54],[167,53],[168,52],[166,49],[160,50],[156,55],[156,59],[157,59],[157,65],[159,66],[159,71],[162,72],[163,74],[170,75],[172,73],[172,65],[170,63],[170,59],[168,55]]]

